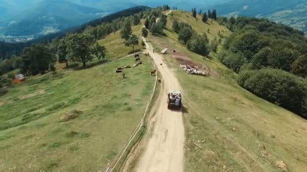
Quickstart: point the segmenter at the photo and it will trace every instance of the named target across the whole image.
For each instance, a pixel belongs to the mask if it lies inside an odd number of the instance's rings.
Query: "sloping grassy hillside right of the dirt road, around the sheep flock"
[[[218,31],[223,36],[231,34],[216,22],[204,24],[200,16],[197,18],[175,11],[173,17],[168,16],[165,36],[149,36],[157,49],[174,48],[219,74],[189,75],[179,68],[171,51],[165,55],[165,62],[174,68],[183,88],[185,171],[279,171],[279,161],[288,171],[303,171],[307,163],[306,120],[239,87],[236,74],[218,61],[219,54],[203,58],[180,45],[171,29],[173,19],[188,22],[197,32],[206,32],[210,40],[219,37]]]

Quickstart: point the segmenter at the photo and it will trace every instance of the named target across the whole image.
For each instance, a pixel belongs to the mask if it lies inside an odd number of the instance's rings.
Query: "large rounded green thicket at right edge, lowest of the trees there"
[[[307,118],[307,81],[279,69],[265,68],[239,73],[238,83],[246,90]]]

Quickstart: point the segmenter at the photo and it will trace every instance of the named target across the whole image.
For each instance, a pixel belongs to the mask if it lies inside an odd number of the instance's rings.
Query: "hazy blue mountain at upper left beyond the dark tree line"
[[[104,15],[103,10],[67,1],[47,0],[18,14],[7,23],[2,33],[12,36],[45,35],[81,25]]]

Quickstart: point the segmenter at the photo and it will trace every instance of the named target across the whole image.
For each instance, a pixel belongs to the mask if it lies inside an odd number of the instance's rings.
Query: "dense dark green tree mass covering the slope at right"
[[[225,21],[225,19],[223,19]],[[307,118],[307,38],[267,19],[231,17],[220,61],[248,91]]]

